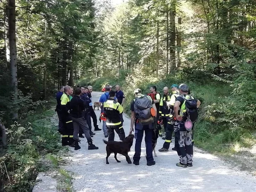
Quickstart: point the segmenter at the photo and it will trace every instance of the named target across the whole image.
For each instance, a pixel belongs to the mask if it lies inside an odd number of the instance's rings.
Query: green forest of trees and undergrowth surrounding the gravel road
[[[129,114],[135,88],[187,83],[197,146],[255,149],[255,21],[254,0],[0,1],[0,191],[31,190],[61,150],[42,120],[61,85],[119,84]]]

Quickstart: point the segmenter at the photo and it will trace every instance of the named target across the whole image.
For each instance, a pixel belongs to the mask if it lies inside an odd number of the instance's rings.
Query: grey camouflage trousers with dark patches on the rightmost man
[[[180,147],[180,163],[192,163],[193,160],[193,144],[192,144],[192,131],[180,130],[176,133],[179,135],[178,144]]]

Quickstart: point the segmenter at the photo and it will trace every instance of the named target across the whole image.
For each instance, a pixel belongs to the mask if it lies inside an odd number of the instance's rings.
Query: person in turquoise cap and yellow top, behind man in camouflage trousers
[[[169,151],[169,148],[170,148],[170,143],[171,143],[171,139],[172,139],[172,135],[173,135],[173,126],[175,124],[173,106],[174,106],[176,98],[179,96],[178,88],[179,88],[179,86],[176,84],[171,85],[171,91],[173,94],[171,95],[170,102],[168,102],[170,109],[171,109],[170,116],[169,116],[170,120],[168,121],[167,126],[166,126],[165,142],[163,144],[163,147],[158,150],[159,152]],[[175,150],[175,147],[172,150]]]

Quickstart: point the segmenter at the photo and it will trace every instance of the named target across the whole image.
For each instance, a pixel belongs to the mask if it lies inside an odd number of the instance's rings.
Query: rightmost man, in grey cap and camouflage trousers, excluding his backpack
[[[181,84],[179,86],[180,96],[176,98],[174,104],[174,114],[178,121],[177,130],[175,130],[175,138],[178,138],[180,162],[176,163],[176,166],[186,168],[192,167],[193,158],[193,144],[192,144],[192,130],[185,127],[185,121],[189,117],[191,119],[192,109],[187,109],[186,102],[194,103],[195,114],[197,115],[197,109],[201,102],[195,99],[191,95],[188,95],[189,86]],[[192,105],[190,105],[192,106]],[[188,115],[189,112],[189,115]],[[196,117],[197,118],[197,117]],[[195,119],[196,120],[196,119]],[[177,151],[178,152],[178,151]],[[179,154],[178,154],[179,155]]]

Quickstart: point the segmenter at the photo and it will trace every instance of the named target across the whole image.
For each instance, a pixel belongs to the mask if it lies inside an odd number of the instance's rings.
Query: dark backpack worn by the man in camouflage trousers
[[[189,95],[189,99],[187,99],[184,95],[180,95],[183,99],[185,99],[185,106],[186,106],[186,115],[185,117],[192,123],[195,123],[197,121],[198,117],[198,109],[197,109],[197,99]]]

